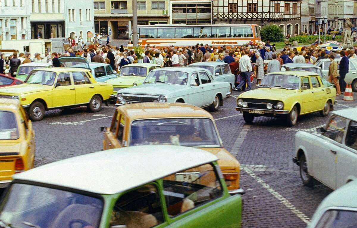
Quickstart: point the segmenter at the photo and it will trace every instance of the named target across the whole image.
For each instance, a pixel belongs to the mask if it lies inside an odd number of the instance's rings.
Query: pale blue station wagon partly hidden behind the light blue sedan
[[[231,72],[231,68],[229,64],[222,62],[198,62],[192,63],[189,65],[190,67],[201,67],[207,69],[213,75],[213,78],[216,81],[220,82],[229,82],[231,84],[231,88],[235,88],[234,80],[235,76]],[[231,91],[232,92],[232,91]]]

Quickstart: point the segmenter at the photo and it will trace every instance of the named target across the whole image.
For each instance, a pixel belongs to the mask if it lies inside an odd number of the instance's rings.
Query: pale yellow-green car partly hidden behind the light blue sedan
[[[160,68],[160,66],[153,63],[128,64],[121,67],[119,77],[109,79],[106,82],[113,85],[113,94],[116,94],[121,89],[140,86],[144,82],[147,74],[157,68]]]

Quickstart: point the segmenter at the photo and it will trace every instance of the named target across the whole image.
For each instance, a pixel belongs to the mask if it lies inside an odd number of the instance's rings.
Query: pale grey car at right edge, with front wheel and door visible
[[[304,185],[314,179],[335,190],[357,180],[357,108],[332,112],[324,128],[316,133],[298,131],[296,157]]]

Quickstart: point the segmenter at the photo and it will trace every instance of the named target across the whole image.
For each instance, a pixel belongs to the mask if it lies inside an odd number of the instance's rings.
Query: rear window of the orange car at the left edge
[[[19,138],[16,117],[13,112],[0,110],[0,140]]]

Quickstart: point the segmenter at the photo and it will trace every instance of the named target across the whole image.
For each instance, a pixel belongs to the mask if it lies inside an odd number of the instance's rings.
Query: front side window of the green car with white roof
[[[121,195],[114,205],[110,218],[110,226],[154,227],[163,222],[159,190],[154,184]]]

